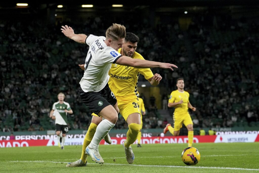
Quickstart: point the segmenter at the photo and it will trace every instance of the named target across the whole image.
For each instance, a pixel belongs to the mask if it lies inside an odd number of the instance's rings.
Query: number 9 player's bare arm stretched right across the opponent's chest
[[[148,61],[148,60],[142,60],[142,59],[132,59],[127,56],[122,56],[120,57],[117,61],[116,64],[119,65],[125,65],[125,66],[131,66],[135,68],[165,68],[165,69],[170,69],[173,71],[172,67],[178,68],[174,64],[170,63],[160,63],[156,61]]]

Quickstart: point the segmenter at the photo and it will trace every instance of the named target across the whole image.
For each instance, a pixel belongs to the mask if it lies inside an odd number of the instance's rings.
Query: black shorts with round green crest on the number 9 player
[[[83,103],[96,115],[106,106],[114,106],[117,103],[117,99],[108,84],[99,92],[86,93],[80,87],[79,96]]]

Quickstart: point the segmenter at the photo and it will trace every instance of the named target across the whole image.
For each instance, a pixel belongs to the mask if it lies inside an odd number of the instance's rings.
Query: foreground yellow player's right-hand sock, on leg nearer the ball
[[[129,130],[127,132],[127,139],[124,143],[125,147],[127,147],[127,148],[130,147],[130,145],[136,141],[137,136],[139,134],[139,130],[140,130],[140,124],[136,124],[136,123],[129,124]]]

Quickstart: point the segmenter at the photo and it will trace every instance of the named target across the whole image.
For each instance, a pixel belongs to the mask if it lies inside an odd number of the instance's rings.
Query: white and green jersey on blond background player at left
[[[67,125],[68,121],[65,109],[71,110],[69,103],[63,102],[60,104],[59,102],[55,102],[52,106],[52,109],[54,110],[53,116],[56,117],[55,124]]]

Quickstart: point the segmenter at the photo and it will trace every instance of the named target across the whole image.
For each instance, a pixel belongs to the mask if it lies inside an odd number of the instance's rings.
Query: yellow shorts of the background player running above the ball
[[[174,130],[178,131],[183,127],[183,124],[185,126],[189,124],[193,124],[191,115],[189,113],[186,114],[180,114],[180,115],[173,115],[174,119]]]

